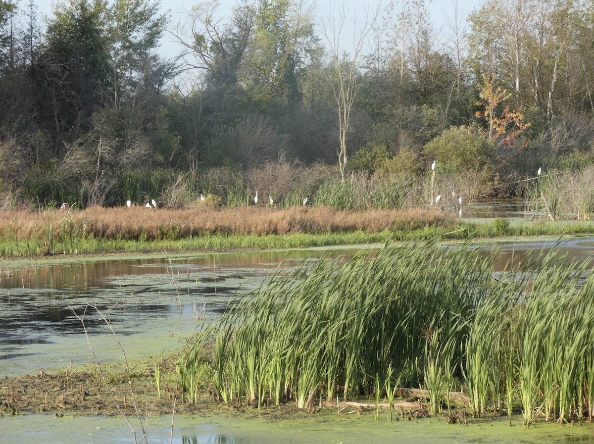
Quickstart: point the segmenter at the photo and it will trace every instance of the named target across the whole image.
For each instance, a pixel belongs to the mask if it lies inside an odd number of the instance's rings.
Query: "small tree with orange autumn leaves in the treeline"
[[[491,77],[482,75],[483,84],[479,84],[479,97],[482,100],[476,102],[478,106],[484,107],[484,111],[477,111],[477,119],[485,119],[486,130],[479,126],[479,131],[491,141],[501,140],[504,145],[516,148],[518,136],[530,126],[530,123],[522,123],[524,116],[520,111],[510,110],[505,102],[513,95],[502,90],[501,87],[494,87],[495,74]],[[504,104],[504,110],[499,113],[497,106]],[[522,145],[523,147],[523,145]]]

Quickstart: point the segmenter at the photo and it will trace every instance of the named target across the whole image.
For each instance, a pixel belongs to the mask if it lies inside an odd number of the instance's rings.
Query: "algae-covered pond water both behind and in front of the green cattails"
[[[550,249],[558,239],[540,239],[535,242],[497,243],[496,271],[503,271],[512,255],[535,249]],[[490,252],[491,245],[476,248]],[[349,256],[361,248],[378,246],[334,247],[333,255]],[[594,254],[594,237],[578,237],[562,240],[560,253],[577,259],[589,259]],[[80,366],[93,361],[93,353],[100,361],[122,360],[121,349],[113,339],[102,316],[109,319],[118,335],[127,359],[158,357],[164,351],[179,350],[188,337],[203,322],[216,318],[225,310],[229,300],[242,291],[257,288],[267,275],[278,267],[290,270],[302,261],[315,261],[328,254],[327,248],[303,250],[259,251],[242,253],[200,253],[193,255],[102,256],[95,258],[49,258],[29,261],[0,262],[0,378],[4,375],[34,374],[43,369],[55,372],[70,363]],[[96,309],[92,308],[96,307]],[[86,312],[85,312],[86,310]],[[87,335],[83,329],[87,329]],[[371,415],[372,416],[372,415]],[[97,441],[97,433],[105,437],[103,442],[133,442],[127,425],[113,418],[50,418],[34,415],[24,418],[0,418],[0,442],[64,442],[62,424],[87,437],[68,442]],[[84,424],[83,429],[79,423]],[[85,422],[86,421],[86,422]],[[98,421],[99,429],[91,429]],[[107,422],[102,422],[107,421]],[[106,424],[116,423],[115,426]],[[162,418],[162,424],[154,426],[151,442],[170,442],[170,418]],[[180,419],[180,421],[183,421]],[[218,421],[218,422],[217,422]],[[338,434],[335,421],[330,424],[313,421],[300,425],[299,435],[291,435],[293,426],[275,423],[275,430],[284,430],[285,435],[270,434],[269,424],[260,424],[255,432],[247,430],[238,421],[220,426],[222,420],[197,419],[176,429],[176,443],[234,443],[256,442],[383,442],[386,434],[402,432],[400,426],[390,423],[390,430],[371,426],[374,431],[355,437],[355,432]],[[224,422],[224,421],[223,421]],[[58,429],[50,424],[60,424]],[[384,424],[380,421],[376,424]],[[10,425],[8,425],[10,424]],[[37,425],[36,425],[37,424]],[[219,425],[217,425],[219,424]],[[239,424],[239,425],[238,425]],[[250,424],[256,424],[252,421]],[[317,424],[317,425],[316,425]],[[321,425],[320,425],[321,424]],[[429,430],[429,429],[422,430]],[[344,425],[344,424],[343,424]],[[442,422],[442,426],[444,423]],[[8,427],[8,428],[7,428]],[[110,428],[111,427],[111,428]],[[179,426],[182,427],[182,426]],[[229,427],[231,427],[229,429]],[[414,427],[407,442],[493,442],[485,437],[467,435],[465,429],[447,428],[447,433],[420,433]],[[451,426],[450,426],[451,427]],[[493,426],[485,426],[493,427]],[[497,426],[499,427],[499,426]],[[22,429],[22,432],[17,430]],[[518,427],[517,429],[521,429]],[[585,430],[586,428],[577,427]],[[8,430],[11,433],[8,433]],[[56,430],[56,432],[52,432]],[[60,432],[58,433],[57,430]],[[95,432],[94,430],[100,430]],[[228,432],[235,430],[235,432]],[[249,429],[251,430],[251,429]],[[259,430],[259,432],[258,432]],[[311,437],[302,435],[311,430]],[[342,429],[341,429],[342,430]],[[381,432],[378,432],[381,430]],[[396,432],[398,430],[398,432]],[[432,430],[432,429],[431,429]],[[456,433],[449,431],[457,430]],[[468,428],[470,430],[470,428]],[[507,429],[502,429],[507,430]],[[522,429],[523,430],[523,429]],[[378,433],[374,437],[374,433]],[[557,436],[555,442],[594,442],[590,428],[587,440],[584,436],[571,435],[571,440]],[[73,432],[74,433],[74,432]],[[276,432],[275,432],[276,433]],[[284,433],[284,432],[283,432]],[[449,433],[449,434],[448,434]],[[499,433],[499,432],[498,432]],[[503,433],[503,432],[501,432]],[[522,432],[523,433],[523,432]],[[573,433],[573,432],[572,432]],[[580,432],[581,433],[581,432]],[[113,436],[112,436],[113,434]],[[93,436],[95,436],[93,438]],[[299,439],[302,436],[302,439]],[[324,436],[324,439],[321,437]],[[542,437],[524,442],[543,442]],[[12,440],[5,438],[12,437]],[[383,440],[381,439],[383,437]],[[568,438],[569,439],[569,438]],[[577,440],[574,440],[577,439]],[[514,436],[498,442],[517,442]],[[548,440],[545,442],[549,442]]]

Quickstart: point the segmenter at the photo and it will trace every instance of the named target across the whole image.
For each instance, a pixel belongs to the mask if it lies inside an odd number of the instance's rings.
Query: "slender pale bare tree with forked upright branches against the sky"
[[[365,9],[364,19],[357,20],[356,15],[353,19],[353,41],[350,48],[350,59],[341,46],[341,39],[344,35],[347,9],[343,3],[338,11],[330,7],[327,11],[326,20],[322,24],[322,35],[326,39],[328,51],[330,52],[331,64],[334,68],[334,76],[328,75],[328,80],[333,88],[334,99],[338,107],[339,115],[339,150],[338,161],[340,175],[345,178],[347,163],[347,135],[350,129],[350,111],[355,102],[355,97],[361,86],[357,80],[357,59],[364,49],[367,37],[374,27],[380,14],[379,7],[375,11]]]

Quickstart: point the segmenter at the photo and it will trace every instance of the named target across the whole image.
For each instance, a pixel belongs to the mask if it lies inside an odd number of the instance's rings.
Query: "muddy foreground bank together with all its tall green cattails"
[[[233,297],[180,353],[5,378],[2,410],[592,421],[590,262],[497,259],[419,242],[304,261]]]

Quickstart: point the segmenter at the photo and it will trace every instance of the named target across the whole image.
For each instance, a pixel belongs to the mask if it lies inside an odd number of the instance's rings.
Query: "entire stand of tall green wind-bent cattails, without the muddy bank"
[[[470,244],[386,245],[306,261],[228,306],[184,354],[210,362],[225,402],[260,405],[429,391],[432,414],[462,386],[470,413],[520,408],[561,423],[592,418],[594,278],[589,264],[541,253],[492,272]],[[210,342],[210,356],[203,356]]]

